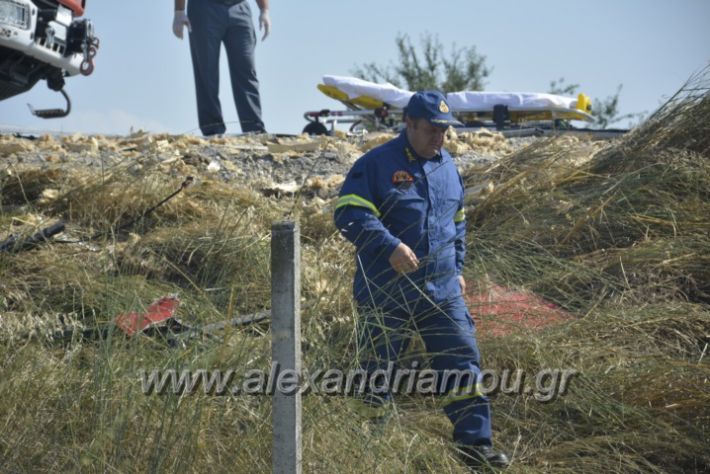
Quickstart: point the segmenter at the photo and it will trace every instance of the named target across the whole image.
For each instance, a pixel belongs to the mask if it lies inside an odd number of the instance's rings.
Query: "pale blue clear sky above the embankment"
[[[189,0],[206,1],[206,0]],[[255,25],[258,8],[251,2]],[[564,77],[592,98],[623,84],[622,113],[649,114],[710,62],[710,0],[271,0],[272,30],[257,45],[263,119],[296,134],[306,111],[342,109],[316,89],[326,74],[352,75],[397,59],[395,37],[438,35],[445,50],[475,46],[493,71],[485,90],[547,92]],[[172,0],[87,0],[101,47],[89,77],[68,78],[72,113],[44,81],[0,102],[0,130],[125,135],[139,129],[196,134],[187,39],[172,34]],[[224,51],[220,98],[227,133],[240,133]],[[621,124],[628,125],[628,124]]]

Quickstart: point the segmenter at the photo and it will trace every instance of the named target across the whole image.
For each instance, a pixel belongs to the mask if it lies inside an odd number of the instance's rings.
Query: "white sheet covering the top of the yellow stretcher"
[[[411,91],[392,84],[377,84],[356,77],[323,76],[323,83],[343,91],[349,98],[372,97],[396,108],[404,108]],[[446,95],[453,112],[490,112],[495,105],[507,105],[510,110],[574,110],[577,99],[540,92],[449,92]]]

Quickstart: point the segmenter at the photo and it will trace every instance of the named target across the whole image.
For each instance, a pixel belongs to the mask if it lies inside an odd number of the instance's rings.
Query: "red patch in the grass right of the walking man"
[[[527,333],[569,321],[573,316],[554,303],[525,291],[493,283],[469,284],[466,303],[481,337]]]

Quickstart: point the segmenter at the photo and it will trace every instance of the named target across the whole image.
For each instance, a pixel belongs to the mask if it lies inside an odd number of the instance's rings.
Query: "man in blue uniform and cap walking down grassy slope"
[[[506,455],[492,448],[490,405],[478,390],[479,352],[463,299],[463,182],[442,149],[447,128],[459,122],[436,91],[414,94],[404,114],[397,138],[355,162],[335,209],[336,226],[357,250],[361,363],[370,374],[385,370],[406,349],[406,334],[418,332],[440,375],[437,394],[464,461],[505,467]],[[446,380],[446,370],[471,377]],[[366,397],[370,408],[390,399],[389,392]]]

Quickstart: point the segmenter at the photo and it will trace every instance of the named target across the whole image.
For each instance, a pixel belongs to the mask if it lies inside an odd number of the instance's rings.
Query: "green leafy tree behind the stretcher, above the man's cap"
[[[486,57],[478,54],[475,46],[457,48],[452,44],[450,53],[445,55],[439,37],[431,33],[421,37],[421,54],[406,34],[398,33],[395,43],[399,55],[396,65],[367,63],[356,67],[353,75],[372,82],[386,81],[411,91],[456,92],[483,89],[491,73]]]

